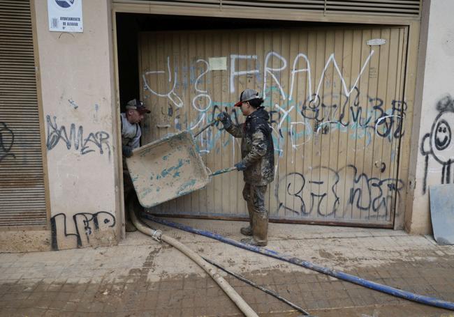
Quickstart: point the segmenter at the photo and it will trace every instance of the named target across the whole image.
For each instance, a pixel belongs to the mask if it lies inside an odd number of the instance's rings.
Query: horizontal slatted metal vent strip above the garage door
[[[287,0],[287,1],[235,1],[235,0],[113,0],[114,3],[150,3],[166,6],[189,6],[201,8],[270,8],[301,10],[312,13],[402,15],[418,16],[421,0]]]

